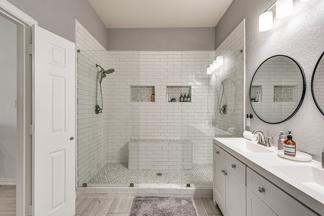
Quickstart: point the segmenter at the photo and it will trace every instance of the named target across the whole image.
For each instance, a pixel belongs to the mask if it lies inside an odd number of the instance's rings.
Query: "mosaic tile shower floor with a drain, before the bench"
[[[157,176],[160,173],[162,176]],[[128,169],[127,163],[107,163],[88,185],[213,183],[213,164],[193,163],[192,169]]]

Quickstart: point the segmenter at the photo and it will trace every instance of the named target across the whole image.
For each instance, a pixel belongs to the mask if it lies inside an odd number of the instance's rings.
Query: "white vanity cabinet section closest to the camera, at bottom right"
[[[318,215],[247,167],[247,216]]]

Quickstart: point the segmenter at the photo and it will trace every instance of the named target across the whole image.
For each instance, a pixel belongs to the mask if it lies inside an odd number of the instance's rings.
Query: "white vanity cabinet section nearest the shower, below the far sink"
[[[213,200],[225,216],[246,215],[246,165],[213,145]]]

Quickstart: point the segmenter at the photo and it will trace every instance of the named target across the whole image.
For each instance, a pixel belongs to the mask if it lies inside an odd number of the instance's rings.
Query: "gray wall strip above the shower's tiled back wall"
[[[215,28],[108,28],[108,50],[215,50]]]

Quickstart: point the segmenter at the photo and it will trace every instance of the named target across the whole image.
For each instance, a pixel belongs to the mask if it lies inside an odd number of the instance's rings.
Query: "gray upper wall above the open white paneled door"
[[[75,19],[107,48],[107,28],[87,0],[8,0],[38,25],[75,42]]]

